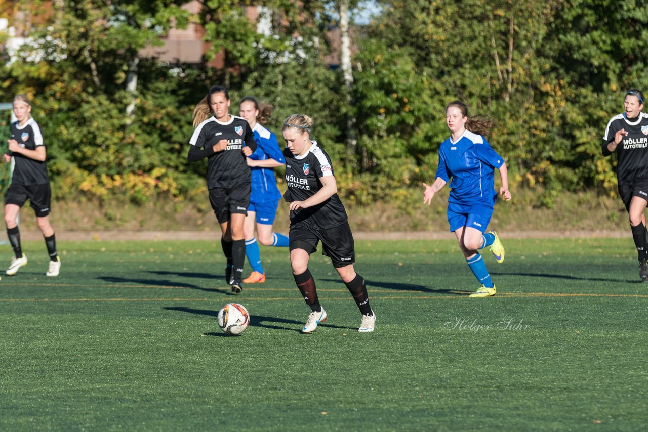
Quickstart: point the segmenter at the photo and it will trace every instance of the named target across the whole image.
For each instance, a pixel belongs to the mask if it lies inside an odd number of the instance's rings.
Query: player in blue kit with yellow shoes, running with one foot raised
[[[430,205],[434,194],[452,177],[448,196],[450,231],[457,236],[470,270],[481,283],[481,288],[470,297],[491,297],[497,290],[478,249],[491,246],[497,262],[504,261],[500,238],[494,231],[486,233],[486,227],[497,200],[494,168],[502,177],[500,195],[507,201],[511,199],[506,164],[483,137],[491,129],[492,122],[468,117],[468,108],[463,102],[454,100],[448,104],[446,125],[452,135],[439,148],[439,168],[434,183],[432,186],[423,183],[423,203]]]

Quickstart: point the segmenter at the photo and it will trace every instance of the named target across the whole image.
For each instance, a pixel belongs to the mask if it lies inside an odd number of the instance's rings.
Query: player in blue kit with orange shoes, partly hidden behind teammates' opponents
[[[247,279],[243,279],[243,282],[255,284],[266,281],[257,238],[264,246],[288,247],[288,237],[272,232],[277,205],[281,199],[273,168],[283,166],[285,161],[277,136],[263,126],[272,114],[272,106],[266,105],[259,109],[257,100],[248,96],[241,100],[239,113],[241,117],[248,120],[249,127],[254,133],[254,140],[257,142],[257,150],[247,159],[252,171],[252,192],[249,196],[248,216],[243,223],[245,252],[252,267],[252,273]],[[254,236],[255,222],[257,222],[257,238]]]

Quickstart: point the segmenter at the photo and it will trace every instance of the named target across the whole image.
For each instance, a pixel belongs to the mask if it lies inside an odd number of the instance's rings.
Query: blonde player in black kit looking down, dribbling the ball
[[[284,198],[290,203],[290,265],[297,288],[311,310],[301,332],[312,333],[327,319],[308,271],[308,258],[319,242],[323,255],[329,256],[360,308],[362,324],[358,332],[373,332],[376,315],[369,306],[365,281],[353,269],[355,251],[347,212],[337,194],[329,155],[316,141],[310,141],[312,124],[310,117],[294,114],[284,120],[281,129],[287,146],[284,157],[288,190]]]

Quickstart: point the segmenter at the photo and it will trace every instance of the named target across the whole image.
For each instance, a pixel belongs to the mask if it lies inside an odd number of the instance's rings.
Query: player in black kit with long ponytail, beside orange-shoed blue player
[[[196,106],[189,162],[205,157],[209,161],[207,188],[223,234],[220,242],[227,259],[225,279],[233,292],[240,293],[245,262],[243,222],[248,214],[251,181],[246,156],[257,149],[257,143],[248,122],[229,114],[230,102],[227,89],[214,85]]]

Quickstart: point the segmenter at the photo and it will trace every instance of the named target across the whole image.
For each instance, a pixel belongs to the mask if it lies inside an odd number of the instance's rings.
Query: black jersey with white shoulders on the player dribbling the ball
[[[333,167],[327,153],[316,141],[303,156],[295,156],[284,149],[286,158],[286,201],[305,201],[322,187],[321,177],[333,176]],[[329,229],[347,222],[347,212],[338,194],[308,209],[290,211],[290,227]]]

